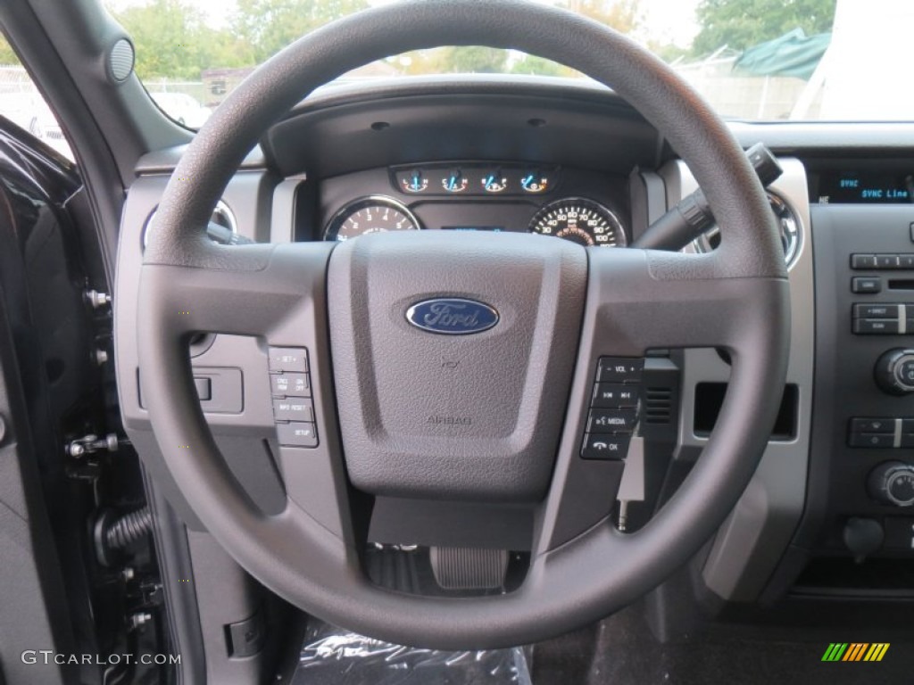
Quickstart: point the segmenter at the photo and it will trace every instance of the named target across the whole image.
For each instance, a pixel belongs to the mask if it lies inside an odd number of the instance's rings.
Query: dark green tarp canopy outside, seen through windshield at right
[[[734,63],[733,68],[757,76],[793,76],[809,80],[825,54],[832,34],[807,36],[802,28],[749,47]]]

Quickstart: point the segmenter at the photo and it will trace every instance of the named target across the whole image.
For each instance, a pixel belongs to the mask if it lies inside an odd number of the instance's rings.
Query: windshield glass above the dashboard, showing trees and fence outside
[[[136,71],[175,121],[197,128],[258,64],[304,33],[392,0],[107,0],[133,37]],[[395,1],[395,0],[394,0]],[[642,43],[726,119],[914,120],[899,79],[914,3],[899,0],[537,0]],[[341,80],[441,73],[583,78],[490,47],[396,55]]]

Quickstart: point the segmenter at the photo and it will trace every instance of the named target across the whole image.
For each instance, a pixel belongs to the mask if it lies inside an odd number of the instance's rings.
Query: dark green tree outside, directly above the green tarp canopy
[[[800,27],[807,34],[832,30],[836,0],[702,0],[696,8],[701,30],[692,53],[718,47],[737,50],[764,43]]]

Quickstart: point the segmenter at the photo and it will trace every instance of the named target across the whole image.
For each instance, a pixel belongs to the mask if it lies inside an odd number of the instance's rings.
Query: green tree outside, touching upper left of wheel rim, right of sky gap
[[[260,63],[318,26],[367,6],[367,0],[238,0],[232,31]]]

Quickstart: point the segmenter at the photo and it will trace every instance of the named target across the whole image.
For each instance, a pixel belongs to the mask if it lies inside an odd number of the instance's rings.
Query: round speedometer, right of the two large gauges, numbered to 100
[[[584,197],[567,197],[546,205],[534,215],[530,232],[563,237],[585,247],[621,248],[627,242],[619,217]]]

